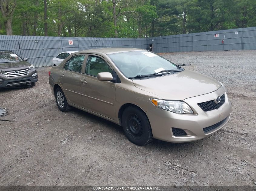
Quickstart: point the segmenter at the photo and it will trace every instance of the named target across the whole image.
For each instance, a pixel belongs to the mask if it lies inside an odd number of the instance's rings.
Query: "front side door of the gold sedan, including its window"
[[[88,56],[85,73],[81,76],[81,94],[84,108],[115,119],[115,83],[99,81],[99,72],[112,72],[103,58]]]

